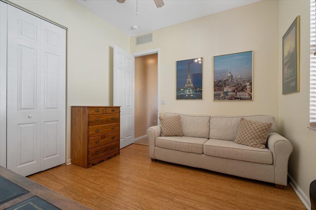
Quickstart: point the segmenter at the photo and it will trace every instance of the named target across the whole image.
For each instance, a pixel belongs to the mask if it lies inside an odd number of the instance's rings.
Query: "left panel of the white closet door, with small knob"
[[[40,171],[40,19],[8,5],[7,168]]]

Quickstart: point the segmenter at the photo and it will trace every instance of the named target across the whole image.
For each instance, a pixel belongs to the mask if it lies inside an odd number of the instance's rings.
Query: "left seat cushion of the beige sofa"
[[[160,136],[156,139],[156,147],[202,154],[203,144],[207,140],[208,139],[206,138],[195,138],[187,136]]]

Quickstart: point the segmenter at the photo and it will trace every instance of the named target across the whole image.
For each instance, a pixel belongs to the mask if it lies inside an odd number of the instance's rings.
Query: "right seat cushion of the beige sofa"
[[[204,144],[204,154],[255,163],[273,163],[271,150],[267,148],[259,149],[245,145],[239,145],[233,141],[209,139]]]

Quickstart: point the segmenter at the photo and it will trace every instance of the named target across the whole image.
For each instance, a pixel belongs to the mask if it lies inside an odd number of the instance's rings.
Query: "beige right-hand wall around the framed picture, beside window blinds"
[[[300,15],[301,63],[300,92],[282,95],[282,36]],[[316,131],[309,126],[310,91],[310,1],[279,1],[279,132],[294,146],[289,160],[289,174],[309,197],[309,186],[316,180]]]

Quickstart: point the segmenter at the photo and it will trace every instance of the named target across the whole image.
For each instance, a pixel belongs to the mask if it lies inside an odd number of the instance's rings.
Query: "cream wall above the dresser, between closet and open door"
[[[113,46],[129,51],[129,37],[73,0],[12,0],[67,27],[66,158],[70,159],[70,106],[113,105]]]

